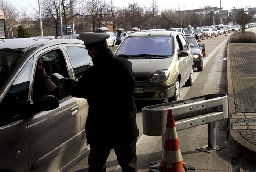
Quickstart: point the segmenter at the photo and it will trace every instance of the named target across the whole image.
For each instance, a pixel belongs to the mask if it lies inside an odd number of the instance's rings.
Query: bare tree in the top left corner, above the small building
[[[19,11],[8,0],[0,0],[0,10],[6,18],[7,38],[12,38],[13,27],[18,24]]]

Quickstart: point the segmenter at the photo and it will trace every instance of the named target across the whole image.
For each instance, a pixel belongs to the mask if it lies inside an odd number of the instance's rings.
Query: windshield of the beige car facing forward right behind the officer
[[[173,54],[174,41],[172,36],[134,36],[124,39],[115,55],[129,56],[152,55],[168,56]]]

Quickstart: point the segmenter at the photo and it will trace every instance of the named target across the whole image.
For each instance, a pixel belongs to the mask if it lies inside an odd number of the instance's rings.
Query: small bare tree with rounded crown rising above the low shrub
[[[236,13],[236,22],[242,26],[242,33],[245,35],[245,24],[251,21],[253,14],[249,14],[247,10],[238,9]]]

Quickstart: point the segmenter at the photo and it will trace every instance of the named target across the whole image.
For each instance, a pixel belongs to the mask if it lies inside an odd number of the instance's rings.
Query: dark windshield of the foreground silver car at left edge
[[[4,84],[7,77],[10,75],[11,71],[17,64],[21,54],[22,52],[18,51],[0,51],[0,87]]]

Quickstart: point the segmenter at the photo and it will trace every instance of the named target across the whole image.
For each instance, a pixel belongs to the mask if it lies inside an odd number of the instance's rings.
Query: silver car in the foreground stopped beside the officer
[[[33,82],[40,57],[52,72],[78,79],[93,65],[83,41],[2,39],[0,47],[0,171],[68,171],[89,154],[87,100],[70,96],[64,87],[61,100],[45,95],[36,101]]]

